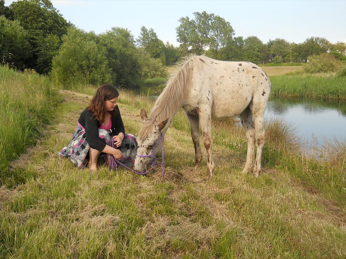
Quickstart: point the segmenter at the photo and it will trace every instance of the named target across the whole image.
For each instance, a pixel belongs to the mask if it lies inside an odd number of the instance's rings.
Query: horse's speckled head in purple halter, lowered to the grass
[[[154,156],[160,150],[162,145],[161,132],[165,127],[168,118],[158,123],[157,121],[147,121],[147,113],[144,108],[140,111],[140,117],[144,122],[137,136],[137,157],[135,160],[134,170],[145,172],[149,169],[154,160]]]

